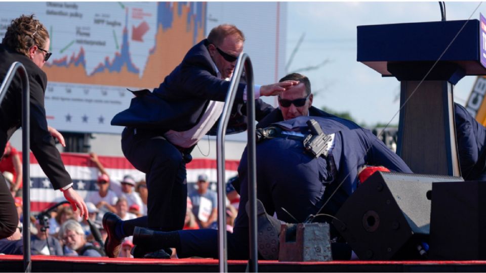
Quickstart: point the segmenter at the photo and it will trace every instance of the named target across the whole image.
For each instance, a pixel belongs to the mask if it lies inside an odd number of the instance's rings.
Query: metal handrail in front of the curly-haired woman
[[[0,85],[0,103],[4,100],[6,90],[9,88],[15,73],[19,71],[20,78],[22,80],[22,199],[23,199],[23,253],[24,253],[24,271],[30,272],[31,260],[30,260],[30,88],[29,78],[27,70],[20,62],[14,62],[5,79]]]

